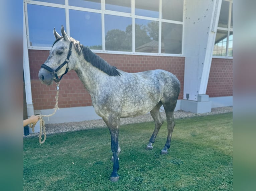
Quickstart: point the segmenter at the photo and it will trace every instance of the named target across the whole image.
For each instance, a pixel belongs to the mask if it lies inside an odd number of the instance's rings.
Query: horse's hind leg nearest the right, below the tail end
[[[171,143],[171,135],[175,126],[173,113],[176,103],[171,105],[163,104],[163,106],[166,114],[168,135],[164,148],[161,150],[161,154],[168,154],[168,148],[170,148]]]

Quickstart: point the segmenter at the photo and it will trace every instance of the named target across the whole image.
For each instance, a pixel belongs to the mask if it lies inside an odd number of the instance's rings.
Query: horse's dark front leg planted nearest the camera
[[[119,180],[119,175],[117,171],[119,169],[118,161],[118,133],[119,133],[119,121],[120,118],[109,117],[108,119],[103,119],[107,124],[110,135],[111,135],[111,150],[113,152],[113,171],[111,173],[110,180],[112,182],[117,182]]]

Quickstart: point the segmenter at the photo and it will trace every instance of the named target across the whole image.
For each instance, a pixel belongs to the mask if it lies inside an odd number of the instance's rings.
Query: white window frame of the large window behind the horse
[[[183,4],[185,2],[183,1]],[[154,17],[144,17],[135,15],[135,0],[131,0],[131,13],[124,13],[124,12],[118,12],[118,11],[111,11],[111,10],[105,10],[105,0],[101,0],[101,10],[97,9],[89,9],[89,8],[83,8],[83,7],[76,7],[76,6],[69,6],[69,0],[65,0],[65,5],[61,4],[55,4],[55,3],[46,3],[46,2],[40,2],[40,1],[33,1],[33,0],[24,0],[24,8],[25,8],[25,22],[26,22],[26,31],[27,31],[27,44],[29,50],[50,50],[51,47],[41,47],[41,46],[30,46],[29,42],[29,30],[28,30],[28,15],[27,15],[27,4],[33,4],[33,5],[43,5],[43,6],[49,6],[49,7],[56,7],[56,8],[65,8],[66,13],[66,32],[70,36],[70,21],[69,21],[69,10],[79,10],[79,11],[87,11],[87,12],[93,12],[93,13],[101,13],[101,20],[102,20],[102,50],[92,50],[94,53],[108,53],[108,54],[125,54],[125,55],[149,55],[149,56],[175,56],[175,57],[184,57],[183,55],[183,34],[184,34],[184,21],[182,19],[182,22],[180,21],[172,21],[172,20],[166,20],[162,19],[162,0],[159,0],[159,18]],[[132,52],[122,52],[122,51],[109,51],[105,50],[105,19],[104,15],[116,15],[116,16],[123,16],[123,17],[129,17],[132,18]],[[183,18],[184,18],[184,6],[183,6]],[[158,53],[142,53],[142,52],[135,52],[135,19],[146,19],[151,21],[158,21],[159,22],[159,35],[158,35]],[[181,54],[165,54],[161,53],[161,25],[162,22],[167,23],[174,23],[174,24],[181,24],[182,25],[182,44],[181,44]],[[56,26],[57,27],[57,26]],[[79,40],[79,39],[77,39]]]

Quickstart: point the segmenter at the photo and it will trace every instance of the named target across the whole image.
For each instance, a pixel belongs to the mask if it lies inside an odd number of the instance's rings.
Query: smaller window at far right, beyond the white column
[[[213,56],[233,57],[233,3],[223,0]]]

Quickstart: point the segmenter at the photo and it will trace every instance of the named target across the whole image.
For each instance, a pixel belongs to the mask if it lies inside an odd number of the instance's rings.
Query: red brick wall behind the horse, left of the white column
[[[49,51],[28,50],[31,91],[34,109],[51,109],[55,104],[56,85],[42,85],[38,79],[41,64],[48,58]],[[163,69],[177,76],[181,83],[179,99],[183,95],[184,57],[138,56],[118,54],[98,54],[110,65],[125,72],[141,72]],[[72,58],[72,57],[71,57]],[[91,96],[84,88],[75,71],[63,76],[60,82],[58,105],[60,108],[92,105]]]

